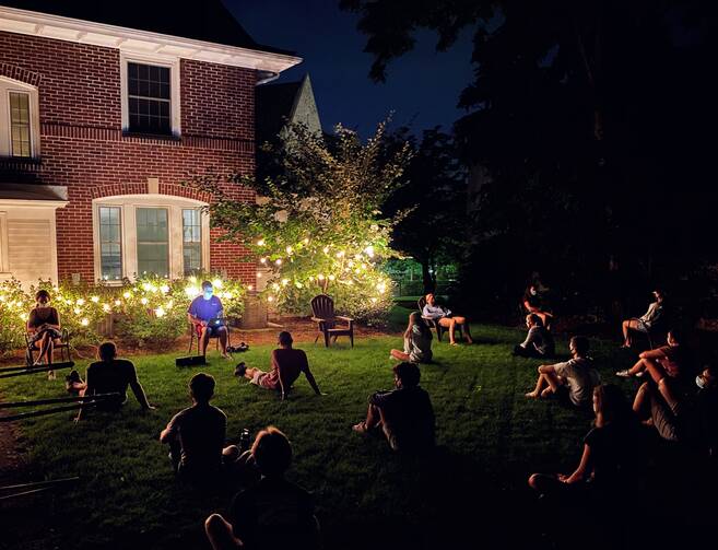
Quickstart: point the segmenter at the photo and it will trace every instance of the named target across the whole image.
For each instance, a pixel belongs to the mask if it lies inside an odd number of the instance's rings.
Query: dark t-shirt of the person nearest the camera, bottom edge
[[[318,548],[311,495],[284,479],[262,478],[237,493],[228,519],[247,550]]]

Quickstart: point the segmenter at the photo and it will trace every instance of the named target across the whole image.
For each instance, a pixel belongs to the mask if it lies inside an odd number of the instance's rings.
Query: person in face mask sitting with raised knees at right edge
[[[676,391],[662,378],[645,382],[633,402],[634,412],[667,441],[715,453],[718,445],[718,368],[706,366],[696,376],[697,391]]]

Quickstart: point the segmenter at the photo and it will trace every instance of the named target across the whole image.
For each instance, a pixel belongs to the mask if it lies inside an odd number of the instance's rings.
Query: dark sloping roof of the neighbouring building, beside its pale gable
[[[257,144],[271,141],[292,117],[304,80],[258,86],[256,95]]]

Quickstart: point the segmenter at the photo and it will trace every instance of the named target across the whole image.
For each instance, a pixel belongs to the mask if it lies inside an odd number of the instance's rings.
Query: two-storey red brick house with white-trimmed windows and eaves
[[[200,211],[211,197],[180,183],[254,174],[255,89],[299,61],[219,0],[0,0],[0,280],[204,269],[254,284]]]

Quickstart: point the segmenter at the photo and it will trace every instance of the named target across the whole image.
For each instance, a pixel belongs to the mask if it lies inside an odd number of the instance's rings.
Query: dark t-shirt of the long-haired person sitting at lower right
[[[584,443],[591,449],[596,483],[615,488],[629,485],[646,467],[646,441],[637,422],[611,422],[593,428]]]

